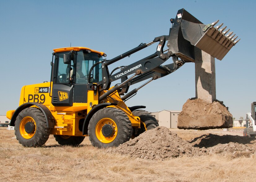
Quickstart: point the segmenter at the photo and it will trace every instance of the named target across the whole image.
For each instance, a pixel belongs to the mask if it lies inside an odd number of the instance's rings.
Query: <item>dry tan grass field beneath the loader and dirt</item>
[[[223,135],[223,132],[216,130],[172,132],[176,132],[184,140],[206,133]],[[106,151],[91,146],[88,137],[79,147],[70,147],[58,145],[52,135],[44,147],[25,148],[15,139],[14,131],[0,127],[0,181],[256,180],[256,154],[236,158],[228,154],[211,154],[158,161],[131,158]]]

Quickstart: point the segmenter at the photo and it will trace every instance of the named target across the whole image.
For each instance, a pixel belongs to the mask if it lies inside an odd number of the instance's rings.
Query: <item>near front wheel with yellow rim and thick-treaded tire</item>
[[[120,109],[106,107],[97,111],[90,119],[88,135],[95,147],[117,147],[131,138],[132,123]]]

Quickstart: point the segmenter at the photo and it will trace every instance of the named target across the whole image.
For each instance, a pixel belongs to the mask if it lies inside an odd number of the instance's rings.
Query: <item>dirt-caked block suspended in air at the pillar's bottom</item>
[[[223,102],[208,103],[202,99],[188,99],[178,116],[179,129],[214,129],[233,127],[232,114]]]

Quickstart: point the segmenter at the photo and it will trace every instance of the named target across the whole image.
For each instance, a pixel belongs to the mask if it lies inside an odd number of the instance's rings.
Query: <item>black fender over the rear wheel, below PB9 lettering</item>
[[[50,128],[54,128],[55,118],[53,117],[51,111],[45,105],[40,104],[40,103],[35,103],[35,102],[28,102],[28,103],[24,103],[24,104],[20,105],[11,117],[10,126],[15,126],[15,120],[16,120],[16,117],[19,115],[19,113],[22,110],[24,110],[28,107],[31,107],[31,106],[37,106],[45,116],[46,126],[50,127]]]

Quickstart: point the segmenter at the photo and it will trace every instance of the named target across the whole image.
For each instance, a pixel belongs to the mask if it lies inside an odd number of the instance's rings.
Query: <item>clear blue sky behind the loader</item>
[[[237,119],[245,118],[250,104],[256,101],[256,1],[0,2],[0,115],[18,107],[23,85],[50,81],[53,49],[69,47],[71,43],[103,51],[111,59],[141,42],[169,34],[170,18],[175,18],[181,8],[205,24],[219,19],[241,38],[222,61],[215,60],[217,99]],[[154,53],[156,46],[153,44],[110,69],[142,59]],[[194,63],[186,63],[176,72],[151,82],[127,105],[145,105],[151,112],[181,110],[187,99],[195,97],[194,67]]]

